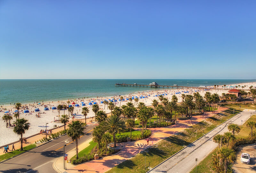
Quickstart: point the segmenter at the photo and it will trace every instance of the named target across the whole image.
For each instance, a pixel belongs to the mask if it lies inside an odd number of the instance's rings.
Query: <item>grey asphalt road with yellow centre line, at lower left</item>
[[[89,125],[85,129],[85,135],[78,140],[79,143],[86,141],[92,137],[93,125]],[[29,172],[29,173],[43,173],[43,172],[56,172],[52,168],[53,161],[63,156],[63,145],[65,152],[76,147],[71,138],[67,135],[55,139],[47,144],[32,149],[23,153],[11,160],[0,163],[0,172],[13,173],[13,172]]]

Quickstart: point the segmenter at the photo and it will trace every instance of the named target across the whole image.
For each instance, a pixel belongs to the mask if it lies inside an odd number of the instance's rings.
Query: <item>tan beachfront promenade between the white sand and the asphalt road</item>
[[[70,118],[69,120],[70,120],[69,122],[71,122],[71,121],[72,121],[72,118]],[[92,118],[87,118],[87,119],[86,119],[87,125],[92,124],[92,122],[90,122],[90,120],[92,120]],[[84,122],[84,119],[82,119],[82,122]],[[62,123],[56,123],[56,124],[57,124],[57,126],[58,126],[58,125],[59,125],[59,126],[63,125]],[[66,128],[67,128],[67,127],[68,127],[68,124],[66,125]],[[45,129],[45,128],[44,128],[44,129]],[[52,133],[57,133],[57,132],[59,132],[59,131],[61,131],[61,130],[64,130],[64,126],[52,130]],[[13,133],[14,133],[14,132],[13,132]],[[26,132],[25,132],[25,134],[26,134]],[[24,134],[23,134],[23,137],[24,137]],[[27,143],[26,143],[26,144],[23,143],[23,147],[24,147],[24,146],[28,146],[28,145],[30,145],[30,144],[34,144],[35,142],[37,142],[37,141],[40,140],[40,139],[43,139],[44,137],[45,137],[45,134],[44,134],[44,135],[41,134],[41,135],[33,136],[33,137],[31,137],[31,138],[27,138]],[[48,135],[47,135],[47,137],[48,137]],[[44,144],[44,143],[38,143],[37,146],[42,145],[42,144]],[[12,149],[12,145],[9,145],[9,148]],[[14,148],[15,148],[16,150],[17,150],[17,149],[20,149],[20,142],[15,143],[15,144],[14,144]],[[8,150],[8,152],[11,152],[11,151]],[[4,147],[0,148],[0,155],[3,155],[3,154],[4,154]]]

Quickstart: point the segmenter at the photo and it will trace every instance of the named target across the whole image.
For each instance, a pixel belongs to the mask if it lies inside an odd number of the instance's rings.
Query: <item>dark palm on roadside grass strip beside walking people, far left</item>
[[[18,119],[16,122],[14,122],[15,127],[13,131],[20,135],[21,141],[20,141],[20,151],[23,151],[22,143],[23,143],[23,138],[22,135],[25,133],[25,130],[28,130],[29,128],[29,123],[28,120],[25,120],[24,118]]]

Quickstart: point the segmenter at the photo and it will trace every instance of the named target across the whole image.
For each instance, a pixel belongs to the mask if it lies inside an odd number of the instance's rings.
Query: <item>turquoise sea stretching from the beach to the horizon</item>
[[[256,82],[256,80],[210,79],[2,79],[0,80],[0,104],[55,101],[70,98],[124,95],[142,90],[143,87],[116,87],[115,83],[200,86],[228,85]],[[159,90],[159,89],[158,89]]]

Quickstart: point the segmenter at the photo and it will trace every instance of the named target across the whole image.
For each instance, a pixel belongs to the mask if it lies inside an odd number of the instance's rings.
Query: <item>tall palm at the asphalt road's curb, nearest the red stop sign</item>
[[[81,121],[72,121],[68,124],[67,135],[71,137],[73,141],[76,141],[76,159],[78,159],[78,139],[81,135],[84,135],[85,123]]]

